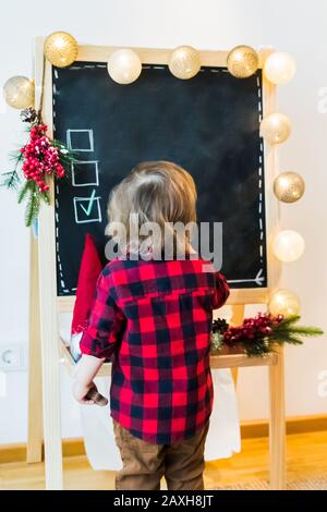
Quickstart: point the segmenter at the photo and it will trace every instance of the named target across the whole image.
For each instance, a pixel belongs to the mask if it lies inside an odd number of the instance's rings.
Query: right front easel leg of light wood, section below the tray
[[[277,364],[269,366],[270,422],[270,488],[286,489],[286,418],[283,352],[278,350]]]

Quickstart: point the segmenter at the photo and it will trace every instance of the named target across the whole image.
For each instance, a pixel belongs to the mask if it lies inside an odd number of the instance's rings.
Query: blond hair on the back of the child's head
[[[195,207],[195,183],[182,167],[164,160],[141,162],[110,193],[107,233],[122,249],[144,242],[155,249],[161,249],[167,229],[170,229],[174,242],[183,245],[190,242],[191,229],[184,231],[182,240],[183,235],[178,233],[173,224],[194,224]],[[160,240],[155,233],[149,235],[142,232],[142,227],[146,223],[159,227]],[[117,230],[117,224],[124,227],[124,237]]]

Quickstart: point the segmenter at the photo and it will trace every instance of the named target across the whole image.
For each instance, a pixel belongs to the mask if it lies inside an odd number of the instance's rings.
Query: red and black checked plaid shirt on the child
[[[111,416],[133,436],[171,444],[205,427],[213,406],[213,309],[229,295],[202,259],[109,263],[81,349],[112,359]]]

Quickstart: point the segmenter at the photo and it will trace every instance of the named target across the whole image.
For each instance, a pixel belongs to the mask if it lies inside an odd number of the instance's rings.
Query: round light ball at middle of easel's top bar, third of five
[[[199,53],[191,46],[180,46],[171,53],[168,65],[177,78],[193,78],[201,69]]]

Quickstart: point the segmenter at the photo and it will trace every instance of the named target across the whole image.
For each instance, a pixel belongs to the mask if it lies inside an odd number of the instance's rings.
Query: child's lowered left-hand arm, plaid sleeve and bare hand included
[[[83,404],[106,405],[94,378],[106,359],[118,349],[125,318],[110,293],[109,277],[99,277],[88,326],[81,340],[82,359],[78,363],[73,394]],[[104,400],[102,400],[104,399]]]

